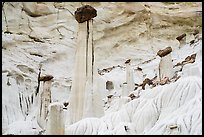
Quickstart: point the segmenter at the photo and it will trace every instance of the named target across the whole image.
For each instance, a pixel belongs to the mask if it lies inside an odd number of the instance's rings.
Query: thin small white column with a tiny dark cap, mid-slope
[[[125,62],[126,65],[126,81],[127,81],[127,92],[129,93],[130,91],[134,91],[135,89],[135,83],[134,83],[134,78],[133,78],[133,69],[131,68],[130,65],[131,60],[128,59]]]

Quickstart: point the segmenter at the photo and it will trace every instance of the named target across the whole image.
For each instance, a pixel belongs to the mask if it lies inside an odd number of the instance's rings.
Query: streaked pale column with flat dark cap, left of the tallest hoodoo
[[[48,114],[48,106],[51,103],[51,83],[53,76],[47,75],[39,78],[43,81],[43,91],[39,94],[39,111],[37,114],[37,122],[42,129],[46,128],[46,118]]]

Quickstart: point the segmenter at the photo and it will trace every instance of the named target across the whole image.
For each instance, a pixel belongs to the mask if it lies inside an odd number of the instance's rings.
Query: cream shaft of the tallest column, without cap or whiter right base
[[[90,37],[92,37],[90,30],[87,30],[87,24],[92,23],[92,20],[84,23],[79,23],[78,28],[78,46],[75,59],[75,73],[73,79],[72,90],[70,94],[70,116],[72,122],[76,122],[83,117],[84,112],[84,96],[86,89],[86,82],[92,85],[92,46],[90,43]],[[89,32],[89,33],[88,33]],[[87,39],[88,38],[88,39]],[[87,52],[88,51],[88,52]],[[91,53],[91,54],[90,54]],[[91,58],[91,60],[90,60]],[[92,87],[91,87],[92,88]],[[89,89],[90,90],[90,89]],[[90,90],[91,92],[91,90]]]

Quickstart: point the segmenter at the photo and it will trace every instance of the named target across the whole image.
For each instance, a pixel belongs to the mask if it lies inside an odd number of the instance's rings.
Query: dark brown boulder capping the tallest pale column
[[[88,21],[88,20],[96,17],[97,11],[89,5],[84,5],[80,8],[77,8],[74,15],[75,15],[75,19],[77,20],[78,23],[83,23],[85,21]]]

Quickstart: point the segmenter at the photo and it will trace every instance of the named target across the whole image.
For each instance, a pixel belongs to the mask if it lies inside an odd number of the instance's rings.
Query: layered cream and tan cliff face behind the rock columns
[[[201,2],[2,2],[3,132],[15,121],[35,118],[29,114],[38,103],[35,95],[40,65],[41,74],[54,76],[52,101],[67,101],[77,41],[74,11],[85,4],[97,10],[93,42],[99,73],[113,66],[123,68],[127,59],[136,69],[154,60],[159,49],[178,49],[176,38],[182,34],[186,34],[185,43],[194,40],[195,32],[202,38]],[[144,74],[135,81],[153,78],[147,71],[156,74],[156,68],[144,67]],[[125,76],[113,76],[102,79],[113,81],[114,88],[119,89]]]

